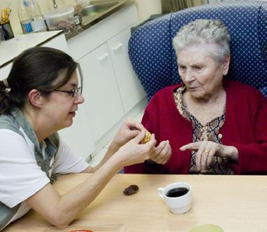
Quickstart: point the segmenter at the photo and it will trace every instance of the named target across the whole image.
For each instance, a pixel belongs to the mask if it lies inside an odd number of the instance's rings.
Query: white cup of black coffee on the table
[[[182,191],[182,189],[184,191]],[[192,187],[190,184],[185,182],[175,182],[173,184],[169,184],[165,188],[158,188],[157,191],[159,196],[164,198],[166,205],[173,214],[184,214],[191,209]],[[180,193],[185,194],[182,196],[177,196],[180,195]],[[172,195],[175,196],[171,197]]]

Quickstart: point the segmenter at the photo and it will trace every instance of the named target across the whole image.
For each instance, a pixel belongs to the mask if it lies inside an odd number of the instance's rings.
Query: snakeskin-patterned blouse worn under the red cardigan
[[[182,93],[185,90],[185,86],[181,86],[176,89],[173,93],[176,107],[180,114],[192,122],[193,128],[193,142],[208,140],[222,144],[222,135],[219,134],[219,130],[224,125],[225,121],[225,107],[224,114],[217,118],[212,119],[206,125],[202,125],[199,121],[187,111],[187,106],[183,102]],[[196,152],[192,151],[191,163],[189,167],[189,174],[199,174],[196,170]],[[207,170],[201,170],[202,174],[231,174],[233,175],[233,170],[231,170],[228,162],[228,158],[221,158],[215,156],[212,165]]]

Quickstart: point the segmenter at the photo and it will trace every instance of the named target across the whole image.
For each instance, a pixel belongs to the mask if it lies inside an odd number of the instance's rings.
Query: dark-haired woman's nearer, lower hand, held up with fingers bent
[[[136,137],[121,146],[117,153],[115,153],[115,156],[120,159],[122,167],[143,163],[150,158],[150,154],[154,151],[157,140],[153,134],[149,142],[141,144],[140,142],[145,137],[145,131],[145,128],[143,128]]]

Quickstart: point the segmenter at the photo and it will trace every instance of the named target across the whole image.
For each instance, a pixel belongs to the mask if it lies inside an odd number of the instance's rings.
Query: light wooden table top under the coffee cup
[[[55,184],[65,193],[88,174],[66,175]],[[157,188],[188,182],[193,188],[192,209],[172,214]],[[122,191],[137,184],[138,193]],[[127,232],[189,231],[200,224],[216,224],[225,232],[267,231],[267,176],[222,175],[116,175],[74,224],[124,225]],[[8,226],[4,232],[44,231],[51,225],[35,212]],[[66,230],[68,231],[68,230]]]

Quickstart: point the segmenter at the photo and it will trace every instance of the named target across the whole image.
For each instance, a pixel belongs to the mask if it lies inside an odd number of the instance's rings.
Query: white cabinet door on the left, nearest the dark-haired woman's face
[[[97,141],[124,115],[107,44],[103,43],[79,63],[84,75],[84,104]]]

